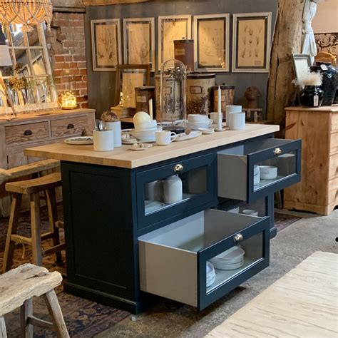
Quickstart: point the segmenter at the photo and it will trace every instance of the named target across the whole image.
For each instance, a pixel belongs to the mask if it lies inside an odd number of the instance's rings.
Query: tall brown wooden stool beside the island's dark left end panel
[[[60,244],[56,209],[55,188],[61,185],[61,174],[52,173],[50,175],[34,178],[32,180],[22,180],[6,183],[6,190],[12,193],[11,215],[9,217],[9,229],[6,238],[4,252],[3,272],[11,268],[15,243],[31,245],[33,262],[42,265],[42,257],[56,254],[56,260],[61,262],[61,250],[65,248],[64,243]],[[41,235],[40,224],[40,193],[46,193],[46,203],[48,206],[49,232]],[[31,237],[24,237],[17,234],[19,210],[22,195],[29,195],[31,200]],[[42,251],[41,240],[53,240],[53,247]]]

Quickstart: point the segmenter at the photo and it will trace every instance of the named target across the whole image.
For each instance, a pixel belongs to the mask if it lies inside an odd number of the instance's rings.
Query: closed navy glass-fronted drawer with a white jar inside
[[[138,229],[215,205],[215,180],[215,153],[136,174]]]

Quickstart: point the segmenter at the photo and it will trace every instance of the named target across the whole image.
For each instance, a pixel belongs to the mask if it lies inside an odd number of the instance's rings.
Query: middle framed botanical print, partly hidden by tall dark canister
[[[191,16],[158,16],[158,70],[174,58],[174,41],[191,38]]]

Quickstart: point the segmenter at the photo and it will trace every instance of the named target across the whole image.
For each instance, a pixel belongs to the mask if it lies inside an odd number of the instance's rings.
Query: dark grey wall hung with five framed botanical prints
[[[116,65],[150,64],[150,86],[174,54],[174,40],[193,39],[194,70],[235,86],[235,104],[256,86],[265,109],[277,0],[154,1],[86,9],[88,106],[116,104]],[[107,95],[100,96],[105,91]]]

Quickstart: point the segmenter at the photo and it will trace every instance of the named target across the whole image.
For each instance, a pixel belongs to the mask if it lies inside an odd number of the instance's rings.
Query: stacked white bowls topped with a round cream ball
[[[155,132],[158,130],[156,120],[151,120],[148,113],[139,111],[133,117],[134,129],[130,130],[130,134],[143,141],[154,141]]]

